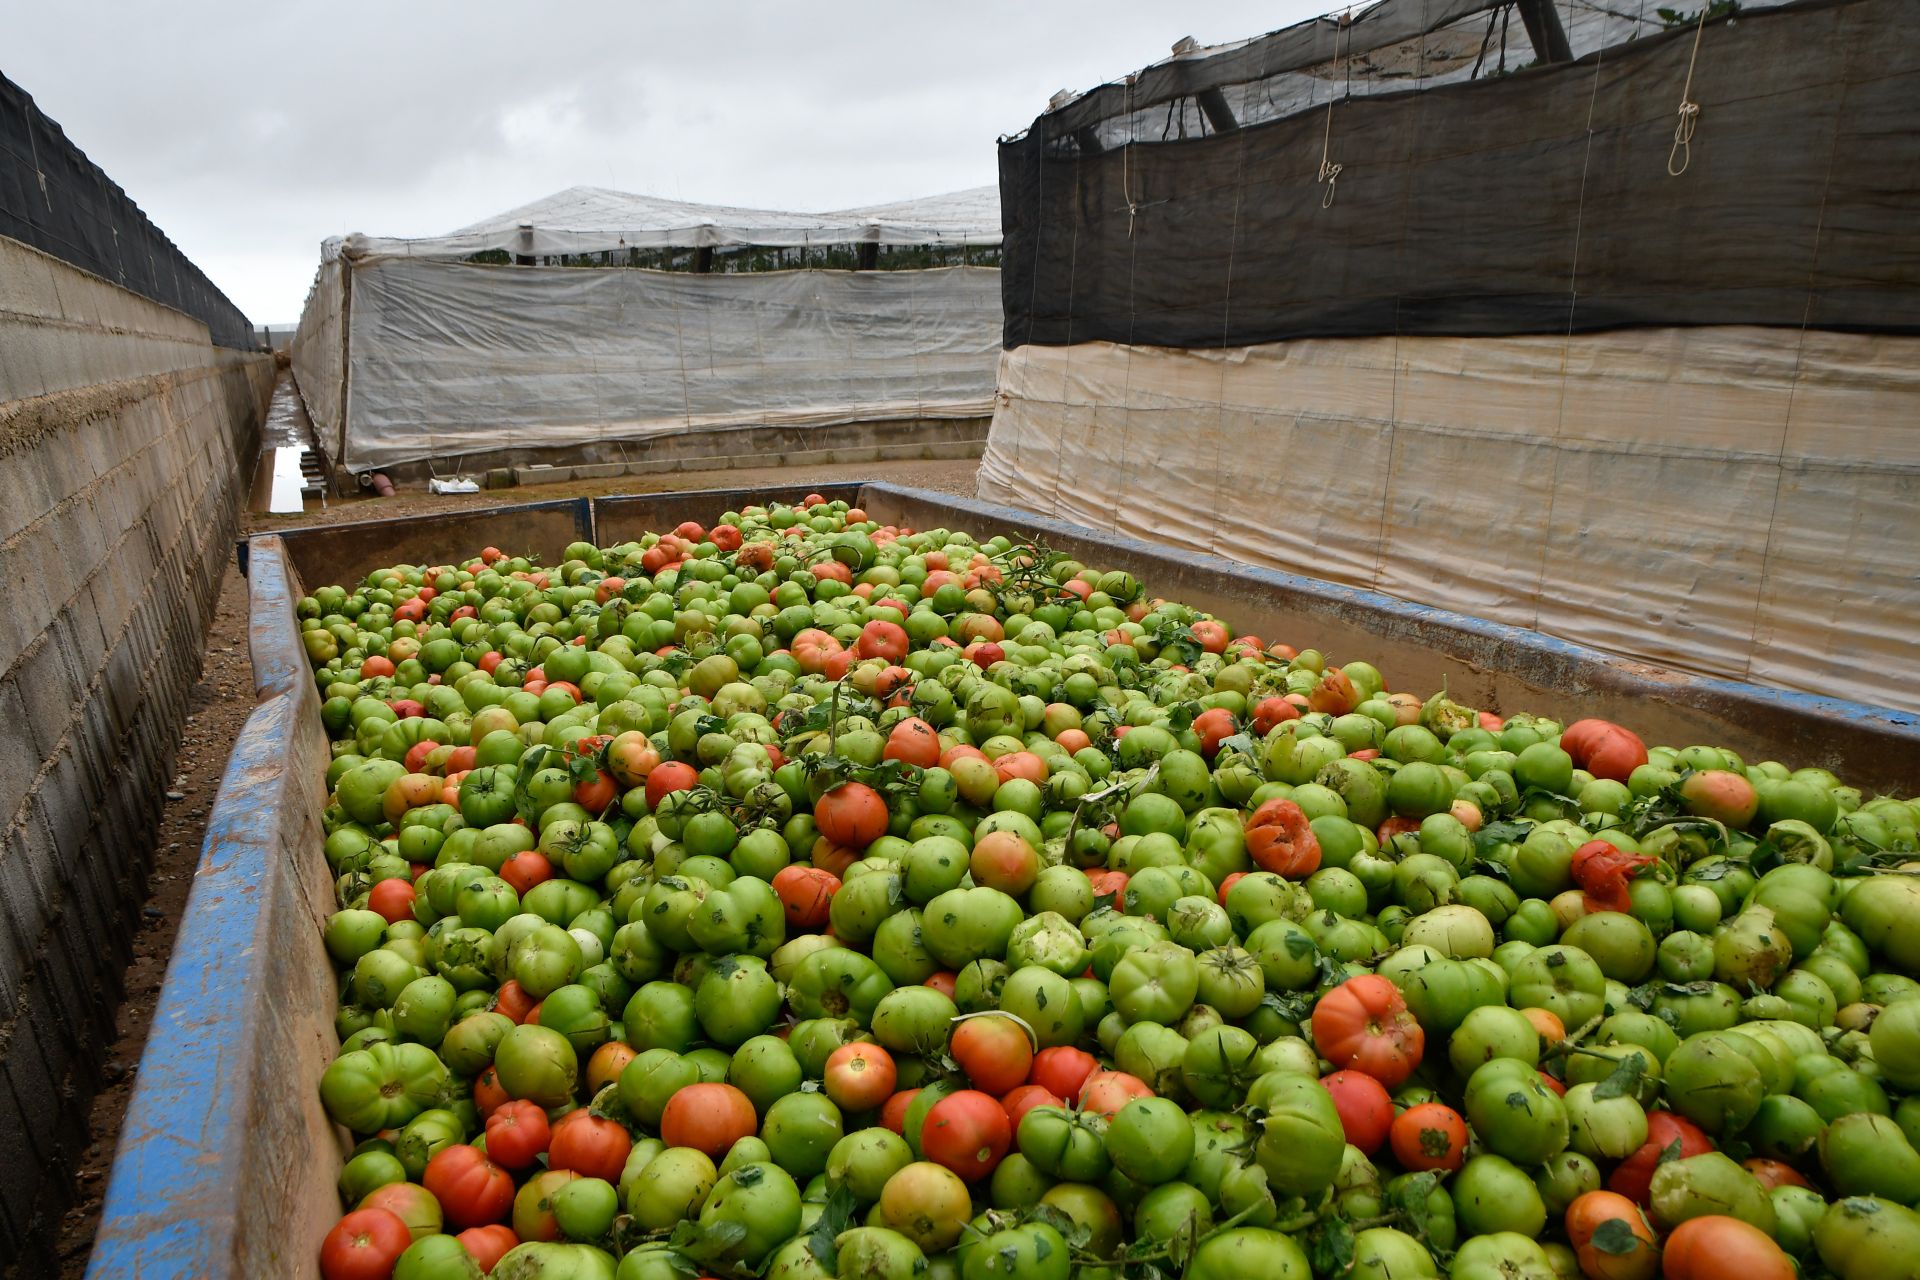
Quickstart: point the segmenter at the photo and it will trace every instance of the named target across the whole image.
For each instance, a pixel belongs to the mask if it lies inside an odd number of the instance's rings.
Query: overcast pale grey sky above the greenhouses
[[[1325,8],[0,0],[0,71],[267,324],[326,236],[566,186],[816,211],[993,182],[1054,90]]]

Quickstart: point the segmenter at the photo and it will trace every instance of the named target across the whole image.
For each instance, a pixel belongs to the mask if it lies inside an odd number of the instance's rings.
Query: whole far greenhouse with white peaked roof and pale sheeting
[[[991,186],[835,213],[570,188],[447,236],[328,240],[294,374],[361,478],[618,464],[674,434],[977,438],[998,246]]]

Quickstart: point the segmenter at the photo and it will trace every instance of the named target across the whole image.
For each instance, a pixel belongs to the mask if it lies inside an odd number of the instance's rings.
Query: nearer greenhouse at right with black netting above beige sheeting
[[[1920,0],[1701,6],[1384,0],[1056,98],[981,497],[1920,706]]]

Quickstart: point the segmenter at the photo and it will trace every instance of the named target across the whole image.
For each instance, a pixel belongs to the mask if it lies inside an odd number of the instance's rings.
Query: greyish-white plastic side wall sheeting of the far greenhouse
[[[993,413],[993,269],[348,267],[344,424],[315,407],[324,393],[309,411],[353,472],[718,426]],[[309,368],[330,376],[328,322],[313,328],[317,363],[303,367],[296,347],[303,388]]]

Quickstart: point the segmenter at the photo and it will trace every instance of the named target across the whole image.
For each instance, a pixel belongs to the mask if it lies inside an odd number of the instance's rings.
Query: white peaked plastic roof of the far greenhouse
[[[1000,188],[900,200],[833,213],[781,213],[699,205],[605,186],[564,192],[507,209],[445,236],[419,240],[348,236],[348,257],[451,257],[503,249],[526,257],[609,249],[1000,244]]]

